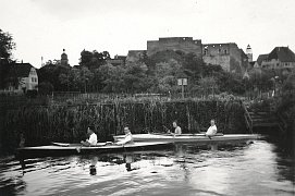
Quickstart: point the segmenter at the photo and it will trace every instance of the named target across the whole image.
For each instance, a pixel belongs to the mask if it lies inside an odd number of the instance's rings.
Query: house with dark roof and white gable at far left
[[[12,64],[8,74],[8,91],[25,94],[27,90],[38,89],[38,74],[29,63]]]

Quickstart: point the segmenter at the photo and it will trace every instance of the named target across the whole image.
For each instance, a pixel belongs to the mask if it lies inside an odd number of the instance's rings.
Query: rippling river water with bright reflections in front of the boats
[[[157,151],[0,163],[0,195],[294,195],[294,157],[278,144],[176,145]]]

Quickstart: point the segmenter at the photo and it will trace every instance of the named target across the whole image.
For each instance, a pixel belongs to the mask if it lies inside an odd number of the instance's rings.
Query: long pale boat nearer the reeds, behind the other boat
[[[124,138],[124,135],[113,136],[114,140]],[[209,138],[205,134],[133,134],[134,142],[169,142],[169,143],[206,143],[206,142],[243,142],[258,139],[257,134],[217,134]]]

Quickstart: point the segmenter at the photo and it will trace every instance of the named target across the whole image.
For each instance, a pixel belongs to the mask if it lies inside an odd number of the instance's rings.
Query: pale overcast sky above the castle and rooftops
[[[274,47],[295,51],[295,0],[0,0],[0,28],[13,36],[13,59],[35,68],[82,50],[126,56],[159,37],[202,44],[249,44],[254,60]]]

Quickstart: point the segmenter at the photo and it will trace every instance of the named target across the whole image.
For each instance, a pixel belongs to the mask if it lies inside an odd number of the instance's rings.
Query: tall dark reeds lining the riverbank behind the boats
[[[99,140],[123,134],[126,124],[133,133],[163,133],[177,120],[183,133],[206,131],[216,119],[219,132],[247,133],[242,101],[182,100],[142,101],[96,105],[49,105],[7,109],[1,118],[1,151],[15,150],[21,134],[26,146],[50,142],[78,143],[86,137],[89,124],[96,127]]]

